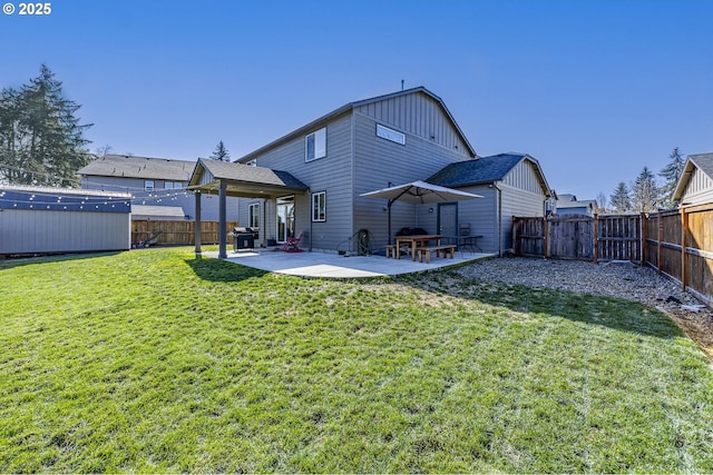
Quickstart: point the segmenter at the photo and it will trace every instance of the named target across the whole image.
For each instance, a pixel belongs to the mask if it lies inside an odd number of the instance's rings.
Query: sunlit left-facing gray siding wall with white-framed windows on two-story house
[[[304,137],[295,137],[275,148],[255,157],[260,167],[284,170],[292,174],[300,181],[310,187],[310,192],[326,192],[326,221],[311,222],[311,195],[295,196],[295,230],[304,231],[309,237],[303,241],[315,249],[336,249],[342,243],[348,243],[353,234],[352,222],[352,135],[351,116],[344,113],[329,121],[326,125],[326,157],[304,161]],[[316,126],[314,130],[324,127]],[[313,132],[310,130],[305,135]],[[243,200],[238,217],[246,222],[247,205],[254,202]],[[276,236],[276,217],[274,200],[272,206],[266,204],[265,238]],[[238,219],[240,220],[240,219]],[[262,232],[261,232],[262,235]],[[311,239],[311,243],[310,243]],[[340,248],[344,248],[342,245]],[[301,246],[302,247],[302,246]]]

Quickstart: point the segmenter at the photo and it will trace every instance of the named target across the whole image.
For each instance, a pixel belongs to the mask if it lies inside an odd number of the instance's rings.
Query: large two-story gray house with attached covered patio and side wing
[[[303,232],[306,248],[354,251],[356,236],[365,229],[371,248],[378,249],[389,241],[387,201],[379,202],[361,194],[423,180],[452,164],[462,166],[480,160],[443,101],[419,87],[350,102],[247,154],[237,160],[240,164],[199,159],[189,188],[219,192],[223,187],[225,196],[248,198],[241,200],[240,216],[248,217],[248,226],[258,225],[264,230],[262,244],[282,243]],[[495,229],[498,226],[495,217],[505,212],[518,214],[521,209],[522,214],[541,216],[549,191],[539,185],[544,177],[537,161],[528,156],[505,160],[508,170],[517,168],[520,161],[526,164],[522,178],[517,178],[520,176],[517,171],[512,174],[514,180],[525,181],[510,184],[504,174],[494,177],[490,184],[494,187],[502,184],[507,191],[510,187],[527,189],[522,199],[535,202],[527,210],[522,206],[511,207],[507,194],[505,205],[490,199],[496,190],[484,200],[490,207],[475,202],[448,207],[395,201],[391,207],[392,231],[418,226],[432,234],[456,235],[460,220],[471,222],[473,234],[485,235],[480,224],[488,222]],[[481,164],[496,161],[490,158]],[[507,168],[500,165],[495,165],[498,171]],[[533,168],[539,176],[530,171]],[[509,232],[505,220],[500,226],[500,231],[489,231],[487,250],[497,251],[504,246],[505,238],[499,243],[494,238]]]

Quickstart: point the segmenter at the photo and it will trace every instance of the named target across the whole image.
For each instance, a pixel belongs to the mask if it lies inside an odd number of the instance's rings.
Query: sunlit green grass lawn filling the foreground
[[[191,250],[0,261],[0,472],[713,472],[663,314]]]

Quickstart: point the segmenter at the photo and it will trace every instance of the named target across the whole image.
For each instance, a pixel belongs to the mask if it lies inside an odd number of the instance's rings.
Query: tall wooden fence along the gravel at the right
[[[514,218],[520,256],[645,263],[713,306],[713,204],[642,215]]]

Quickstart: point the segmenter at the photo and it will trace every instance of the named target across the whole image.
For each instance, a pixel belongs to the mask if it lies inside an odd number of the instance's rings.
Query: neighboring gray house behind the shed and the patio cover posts
[[[187,189],[195,161],[105,155],[78,174],[85,189],[123,191],[131,195],[131,219],[195,219],[195,198]],[[204,199],[202,219],[218,219],[217,197]],[[228,220],[237,221],[237,199],[228,199]]]

